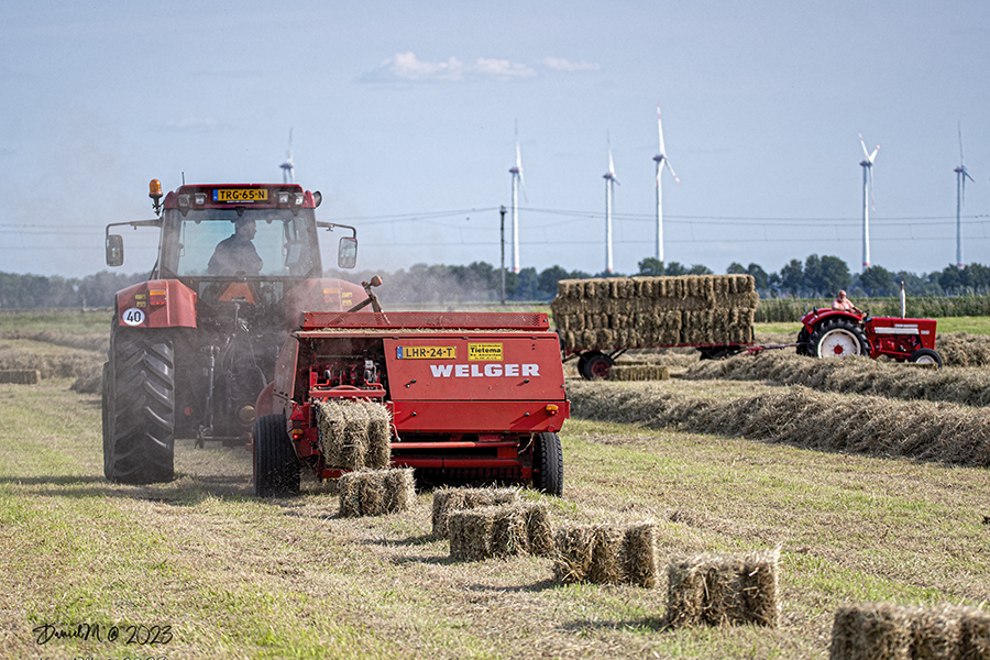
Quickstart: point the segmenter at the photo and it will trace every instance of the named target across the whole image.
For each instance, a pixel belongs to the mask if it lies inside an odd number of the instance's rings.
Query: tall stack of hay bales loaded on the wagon
[[[750,275],[562,279],[550,304],[570,351],[752,342]]]

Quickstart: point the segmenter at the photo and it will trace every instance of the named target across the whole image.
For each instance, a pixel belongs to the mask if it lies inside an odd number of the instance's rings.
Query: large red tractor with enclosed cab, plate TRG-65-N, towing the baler
[[[103,472],[123,483],[170,481],[176,438],[245,444],[255,399],[285,338],[308,310],[346,310],[362,287],[322,275],[319,229],[344,228],[338,265],[353,267],[356,230],[318,222],[320,194],[286,185],[189,185],[156,217],[107,227],[107,264],[123,264],[114,226],[154,227],[147,282],[117,293],[103,365]]]

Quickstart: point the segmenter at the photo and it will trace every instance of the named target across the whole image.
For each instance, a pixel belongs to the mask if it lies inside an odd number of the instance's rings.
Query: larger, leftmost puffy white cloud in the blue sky
[[[530,78],[537,73],[525,64],[493,57],[479,57],[473,65],[465,65],[457,57],[444,62],[426,62],[416,57],[411,51],[396,53],[382,62],[373,72],[360,79],[365,82],[393,82],[405,80],[411,82],[457,82],[469,77],[510,80]]]

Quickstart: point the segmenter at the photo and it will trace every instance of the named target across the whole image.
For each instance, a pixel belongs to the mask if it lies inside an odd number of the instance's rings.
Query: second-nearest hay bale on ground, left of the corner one
[[[671,626],[757,624],[779,619],[779,550],[698,554],[668,564],[667,619]]]

